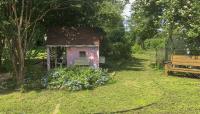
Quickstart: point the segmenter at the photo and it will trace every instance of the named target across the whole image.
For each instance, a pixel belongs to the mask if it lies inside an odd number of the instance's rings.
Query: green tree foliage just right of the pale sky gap
[[[135,0],[132,10],[131,36],[135,43],[144,48],[144,41],[154,38],[158,33],[157,21],[162,14],[162,6],[156,4],[156,0]]]

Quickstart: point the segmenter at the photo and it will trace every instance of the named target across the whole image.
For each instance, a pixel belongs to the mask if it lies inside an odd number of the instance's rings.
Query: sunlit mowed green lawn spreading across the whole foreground
[[[94,90],[0,93],[0,114],[200,114],[200,79],[165,77],[153,58],[135,55],[115,68],[114,83]]]

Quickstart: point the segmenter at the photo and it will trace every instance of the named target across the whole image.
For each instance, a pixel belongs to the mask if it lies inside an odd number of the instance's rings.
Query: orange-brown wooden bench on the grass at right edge
[[[165,64],[165,75],[169,72],[200,74],[200,56],[172,55],[171,61]]]

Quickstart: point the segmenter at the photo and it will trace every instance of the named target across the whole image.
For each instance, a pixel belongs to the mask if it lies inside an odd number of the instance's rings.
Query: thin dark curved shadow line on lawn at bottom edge
[[[116,112],[109,112],[108,114],[121,114],[121,113],[130,113],[133,111],[137,111],[137,110],[141,110],[143,108],[146,108],[146,107],[150,107],[152,105],[155,105],[156,103],[151,103],[151,104],[148,104],[148,105],[145,105],[145,106],[141,106],[141,107],[138,107],[138,108],[133,108],[133,109],[128,109],[128,110],[121,110],[121,111],[116,111]],[[99,112],[99,113],[94,113],[94,114],[107,114],[105,112]]]

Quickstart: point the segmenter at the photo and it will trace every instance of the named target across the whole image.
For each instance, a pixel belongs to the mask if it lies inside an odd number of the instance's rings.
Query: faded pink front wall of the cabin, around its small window
[[[79,52],[85,51],[86,57],[90,61],[90,66],[99,67],[99,48],[98,47],[70,47],[67,48],[67,66],[73,66],[77,58],[80,57]]]

